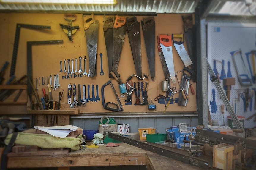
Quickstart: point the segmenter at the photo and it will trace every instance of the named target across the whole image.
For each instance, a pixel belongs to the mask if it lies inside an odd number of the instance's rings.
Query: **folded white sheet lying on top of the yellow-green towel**
[[[66,125],[66,126],[49,126],[49,127],[44,127],[44,126],[34,126],[35,129],[42,130],[46,133],[49,133],[53,136],[64,138],[67,137],[67,135],[71,131],[76,131],[78,129],[77,126],[73,125]]]

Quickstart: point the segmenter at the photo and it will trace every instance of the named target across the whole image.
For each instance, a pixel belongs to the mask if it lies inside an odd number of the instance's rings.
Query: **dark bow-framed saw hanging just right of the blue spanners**
[[[109,84],[110,84],[110,86],[111,86],[111,88],[112,88],[112,90],[113,90],[113,92],[114,92],[114,94],[115,94],[115,96],[116,96],[116,100],[117,100],[117,102],[118,102],[119,107],[118,107],[118,105],[117,105],[116,103],[113,103],[113,102],[107,102],[107,103],[105,104],[104,88],[105,88],[107,85],[109,85]],[[124,110],[124,109],[122,108],[122,104],[121,104],[121,102],[120,102],[120,100],[119,100],[119,98],[118,98],[118,96],[117,96],[117,94],[116,94],[116,90],[115,90],[115,88],[114,88],[114,86],[113,86],[111,80],[108,80],[108,82],[106,82],[104,85],[102,85],[102,88],[101,88],[101,96],[102,96],[102,106],[103,106],[104,109],[111,110],[111,111],[116,111],[116,112],[118,112],[118,111],[123,111],[123,110]]]

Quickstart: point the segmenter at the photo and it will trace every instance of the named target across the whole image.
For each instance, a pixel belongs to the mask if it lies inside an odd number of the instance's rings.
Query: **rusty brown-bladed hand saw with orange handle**
[[[117,67],[118,67],[121,51],[124,44],[124,37],[126,34],[125,23],[126,23],[125,17],[119,17],[118,15],[116,15],[116,20],[114,24],[114,35],[113,35],[114,46],[113,46],[113,66],[112,66],[112,70],[115,70],[116,72],[117,72]]]

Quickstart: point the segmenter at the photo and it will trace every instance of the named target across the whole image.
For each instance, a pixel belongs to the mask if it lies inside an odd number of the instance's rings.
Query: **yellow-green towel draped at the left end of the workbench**
[[[8,145],[12,134],[9,134],[4,143]],[[38,146],[40,148],[70,148],[73,150],[79,150],[79,145],[82,143],[80,138],[76,137],[54,137],[53,135],[45,134],[33,134],[33,133],[24,133],[19,132],[15,140],[15,144],[19,145],[29,145],[29,146]]]

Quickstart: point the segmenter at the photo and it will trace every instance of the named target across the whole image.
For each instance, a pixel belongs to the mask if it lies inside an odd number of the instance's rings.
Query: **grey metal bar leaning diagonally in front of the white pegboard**
[[[206,59],[207,60],[207,59]],[[217,80],[217,77],[216,75],[214,74],[208,60],[207,60],[207,71],[209,72],[210,76],[212,77],[212,81],[214,82],[214,85],[215,87],[217,88],[225,106],[227,107],[227,110],[233,120],[233,122],[235,123],[236,125],[236,128],[237,129],[241,129],[241,130],[244,130],[244,128],[242,127],[242,125],[240,124],[238,118],[236,117],[236,113],[235,111],[233,110],[232,106],[230,105],[228,99],[227,99],[227,96],[225,95],[224,91],[222,90],[220,84],[218,83],[218,80]]]

